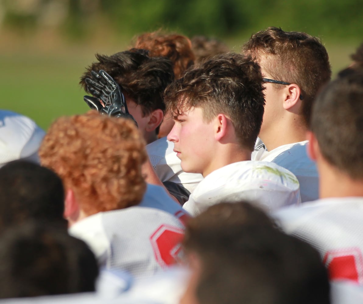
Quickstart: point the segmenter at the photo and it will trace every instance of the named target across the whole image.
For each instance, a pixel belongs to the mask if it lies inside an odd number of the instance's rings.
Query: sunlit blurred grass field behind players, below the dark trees
[[[234,51],[247,38],[227,41]],[[333,76],[350,64],[360,41],[339,42],[322,39],[325,44]],[[0,108],[31,117],[47,129],[57,117],[84,113],[85,92],[78,82],[85,67],[94,61],[95,53],[113,54],[125,50],[130,41],[118,45],[70,45],[52,41],[1,40],[0,47]]]

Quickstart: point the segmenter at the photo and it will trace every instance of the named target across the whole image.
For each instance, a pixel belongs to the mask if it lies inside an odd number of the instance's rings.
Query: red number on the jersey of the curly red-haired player
[[[183,229],[168,225],[161,225],[152,234],[150,242],[160,266],[167,267],[178,260],[183,236]]]

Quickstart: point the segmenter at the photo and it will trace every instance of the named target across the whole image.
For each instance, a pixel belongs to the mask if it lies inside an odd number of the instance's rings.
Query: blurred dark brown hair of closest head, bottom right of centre
[[[184,247],[200,260],[200,304],[329,303],[318,251],[278,230],[247,202],[213,205],[192,218]]]

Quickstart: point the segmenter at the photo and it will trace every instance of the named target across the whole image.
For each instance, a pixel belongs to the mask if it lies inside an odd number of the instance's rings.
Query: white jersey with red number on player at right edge
[[[287,234],[320,252],[331,280],[363,285],[363,197],[321,199],[273,216]]]

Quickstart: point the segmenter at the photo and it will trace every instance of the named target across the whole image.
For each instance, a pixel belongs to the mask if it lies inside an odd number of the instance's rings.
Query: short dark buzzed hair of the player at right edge
[[[323,157],[352,179],[363,178],[363,69],[329,83],[314,102],[311,130]]]

